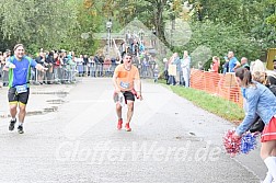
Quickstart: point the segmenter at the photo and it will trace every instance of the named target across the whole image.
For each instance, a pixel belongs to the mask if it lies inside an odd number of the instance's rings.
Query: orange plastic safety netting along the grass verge
[[[235,81],[234,73],[222,75],[192,69],[191,88],[221,96],[240,106],[243,105],[241,89]]]

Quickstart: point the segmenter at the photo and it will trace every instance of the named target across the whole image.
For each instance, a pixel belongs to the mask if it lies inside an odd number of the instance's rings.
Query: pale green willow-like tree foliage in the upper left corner
[[[54,48],[78,25],[73,0],[2,0],[1,42],[25,43],[31,48]]]

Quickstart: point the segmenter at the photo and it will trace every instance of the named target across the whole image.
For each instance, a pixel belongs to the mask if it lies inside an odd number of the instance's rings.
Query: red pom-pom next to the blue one
[[[234,130],[228,130],[223,137],[223,145],[227,153],[234,157],[241,150],[241,139],[233,138]]]

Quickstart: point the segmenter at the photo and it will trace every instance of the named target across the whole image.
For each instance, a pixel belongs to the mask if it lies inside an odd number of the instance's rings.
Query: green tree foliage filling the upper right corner
[[[246,33],[263,50],[276,46],[275,0],[191,0],[191,3],[195,9],[196,4],[202,7],[194,20],[202,13],[203,20],[233,25]]]

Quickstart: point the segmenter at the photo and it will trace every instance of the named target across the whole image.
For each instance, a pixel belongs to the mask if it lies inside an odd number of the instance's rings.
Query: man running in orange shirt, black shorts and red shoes
[[[119,94],[122,92],[125,96],[125,101],[128,107],[125,128],[127,131],[130,131],[131,128],[129,126],[129,123],[134,114],[135,96],[139,100],[142,100],[139,70],[136,66],[133,65],[131,55],[125,54],[123,64],[116,67],[113,75],[113,85],[115,88],[115,94]],[[122,129],[123,118],[122,105],[119,104],[119,102],[116,103],[116,113],[118,116],[117,128]]]

